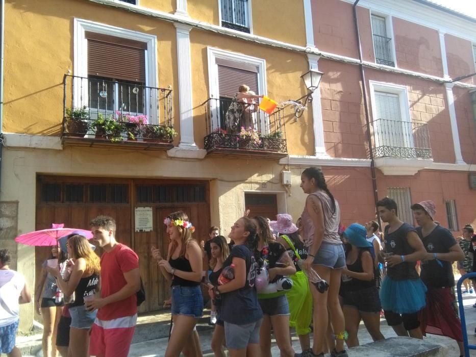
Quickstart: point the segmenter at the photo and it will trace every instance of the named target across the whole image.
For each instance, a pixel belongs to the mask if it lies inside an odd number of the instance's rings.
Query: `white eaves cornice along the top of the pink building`
[[[355,0],[341,1],[350,4],[355,3]],[[392,14],[393,17],[414,22],[434,30],[441,30],[468,41],[474,42],[476,40],[476,23],[411,0],[361,0],[358,6],[371,11]]]

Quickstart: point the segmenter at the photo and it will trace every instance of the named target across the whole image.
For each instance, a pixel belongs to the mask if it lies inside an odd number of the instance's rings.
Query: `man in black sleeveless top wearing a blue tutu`
[[[379,215],[385,227],[385,250],[379,256],[387,263],[387,275],[380,289],[380,300],[385,319],[398,336],[422,339],[418,312],[425,306],[426,288],[421,282],[415,264],[426,251],[416,230],[398,219],[397,205],[391,198],[377,202]]]

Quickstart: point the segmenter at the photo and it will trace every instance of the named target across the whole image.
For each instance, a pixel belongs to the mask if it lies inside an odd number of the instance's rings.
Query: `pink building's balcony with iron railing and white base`
[[[385,174],[415,174],[433,161],[427,123],[378,119],[371,122],[375,166]]]

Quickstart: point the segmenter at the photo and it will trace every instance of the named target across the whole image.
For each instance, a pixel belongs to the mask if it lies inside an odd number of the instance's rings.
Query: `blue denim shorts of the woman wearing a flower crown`
[[[172,315],[195,318],[203,315],[203,295],[199,286],[172,286]]]

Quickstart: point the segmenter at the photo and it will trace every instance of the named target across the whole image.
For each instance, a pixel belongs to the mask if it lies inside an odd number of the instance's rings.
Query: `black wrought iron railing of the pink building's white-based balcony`
[[[374,158],[433,158],[427,123],[378,119],[371,124]]]

